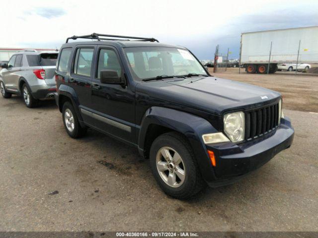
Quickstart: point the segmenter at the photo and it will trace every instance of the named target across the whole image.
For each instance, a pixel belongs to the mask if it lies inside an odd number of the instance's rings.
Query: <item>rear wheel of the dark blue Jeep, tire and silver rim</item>
[[[69,136],[72,138],[79,138],[86,134],[87,128],[80,126],[79,119],[75,113],[73,105],[70,102],[65,102],[63,104],[62,115],[64,127]]]

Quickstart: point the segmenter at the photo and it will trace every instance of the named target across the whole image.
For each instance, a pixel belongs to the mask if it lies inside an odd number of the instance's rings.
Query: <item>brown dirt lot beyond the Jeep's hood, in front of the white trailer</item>
[[[209,68],[212,75],[228,79],[238,80],[245,83],[255,84],[264,88],[269,88],[280,92],[283,97],[284,108],[305,112],[318,112],[318,75],[306,75],[298,72],[276,72],[275,74],[247,74],[245,69],[228,68],[222,71],[220,68],[213,73],[213,68]]]

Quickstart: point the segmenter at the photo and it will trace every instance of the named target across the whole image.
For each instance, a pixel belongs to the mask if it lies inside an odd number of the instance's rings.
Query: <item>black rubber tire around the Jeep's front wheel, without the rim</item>
[[[157,169],[157,155],[162,147],[170,147],[181,157],[185,177],[182,184],[178,187],[172,187],[167,184],[159,174]],[[168,132],[156,138],[150,149],[150,166],[160,188],[171,197],[178,199],[189,198],[202,190],[206,185],[201,177],[197,160],[189,142],[177,132]],[[173,169],[171,169],[171,171],[173,171]],[[168,173],[170,175],[170,172]]]

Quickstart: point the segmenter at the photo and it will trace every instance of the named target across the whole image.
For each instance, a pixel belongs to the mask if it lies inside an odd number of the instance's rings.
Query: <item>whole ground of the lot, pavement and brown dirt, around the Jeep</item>
[[[284,110],[294,144],[188,201],[166,196],[134,149],[92,130],[70,138],[54,102],[0,97],[0,231],[318,231],[317,77],[217,75],[282,92],[300,110]]]

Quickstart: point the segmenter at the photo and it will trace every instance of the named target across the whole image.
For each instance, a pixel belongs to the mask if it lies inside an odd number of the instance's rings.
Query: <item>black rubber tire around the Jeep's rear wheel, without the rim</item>
[[[66,111],[67,110],[69,110],[72,113],[72,117],[73,117],[73,121],[74,121],[74,128],[73,128],[72,131],[68,128],[68,126],[66,124],[66,120],[65,120]],[[79,137],[81,137],[81,136],[86,134],[87,127],[81,127],[80,126],[79,119],[78,119],[78,117],[76,115],[76,112],[74,110],[74,107],[73,107],[72,103],[65,102],[63,104],[62,118],[63,118],[63,124],[64,124],[64,127],[65,127],[65,130],[69,134],[69,136],[71,136],[72,138],[79,138]]]

